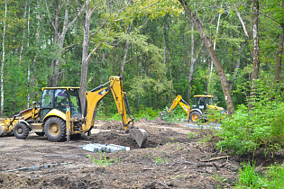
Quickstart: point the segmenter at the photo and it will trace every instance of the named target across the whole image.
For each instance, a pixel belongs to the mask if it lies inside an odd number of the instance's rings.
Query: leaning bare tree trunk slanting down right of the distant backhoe
[[[220,82],[221,82],[221,85],[222,85],[222,89],[223,89],[223,93],[224,93],[224,100],[225,100],[225,103],[226,103],[226,106],[227,106],[227,110],[229,112],[229,116],[232,116],[232,114],[234,113],[234,103],[233,103],[233,100],[232,100],[232,95],[231,95],[230,86],[228,84],[227,77],[224,74],[224,68],[223,68],[222,64],[220,63],[220,60],[217,57],[215,50],[213,49],[212,43],[209,40],[209,38],[207,37],[206,32],[204,31],[202,24],[200,23],[197,16],[191,12],[188,5],[185,4],[184,0],[179,0],[179,2],[184,7],[186,14],[191,19],[191,21],[193,23],[195,23],[195,25],[197,27],[197,31],[199,32],[201,39],[206,44],[206,49],[209,52],[209,55],[210,55],[210,57],[211,57],[211,59],[214,63],[215,69],[217,71],[217,74],[219,76],[219,79],[220,79]]]

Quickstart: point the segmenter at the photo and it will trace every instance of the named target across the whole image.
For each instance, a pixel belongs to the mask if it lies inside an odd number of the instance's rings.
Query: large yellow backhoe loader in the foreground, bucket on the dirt
[[[105,86],[110,84],[109,86]],[[14,134],[17,139],[26,139],[30,131],[45,135],[50,141],[60,141],[78,133],[90,134],[94,127],[98,103],[112,92],[117,110],[123,119],[125,131],[129,131],[136,143],[145,147],[148,139],[146,130],[133,127],[133,117],[129,108],[123,81],[119,76],[111,76],[109,82],[85,93],[86,113],[82,115],[79,87],[44,87],[40,106],[26,109],[13,118],[0,119],[0,136]],[[126,108],[129,117],[126,113]]]

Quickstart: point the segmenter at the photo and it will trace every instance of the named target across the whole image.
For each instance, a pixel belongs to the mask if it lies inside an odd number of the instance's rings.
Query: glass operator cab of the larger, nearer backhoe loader
[[[66,113],[70,108],[71,117],[82,117],[79,87],[44,87],[42,88],[40,117],[41,120],[53,109]]]

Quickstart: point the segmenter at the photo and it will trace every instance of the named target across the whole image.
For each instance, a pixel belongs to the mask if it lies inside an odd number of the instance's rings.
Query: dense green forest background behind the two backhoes
[[[158,116],[177,94],[188,104],[194,94],[213,94],[230,115],[241,104],[284,101],[283,1],[1,0],[0,6],[2,116],[31,107],[41,87],[80,86],[84,94],[109,76],[123,77],[137,116]],[[112,96],[99,110],[117,112]]]

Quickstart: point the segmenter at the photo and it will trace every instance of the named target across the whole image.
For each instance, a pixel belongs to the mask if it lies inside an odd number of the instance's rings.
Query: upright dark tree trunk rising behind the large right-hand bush
[[[253,60],[253,67],[252,67],[252,85],[251,85],[251,94],[249,99],[249,110],[253,107],[253,102],[255,102],[256,98],[256,80],[259,78],[260,73],[260,44],[259,44],[259,1],[252,0],[252,60]]]

